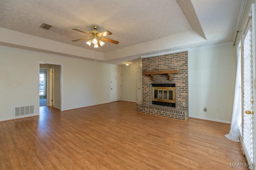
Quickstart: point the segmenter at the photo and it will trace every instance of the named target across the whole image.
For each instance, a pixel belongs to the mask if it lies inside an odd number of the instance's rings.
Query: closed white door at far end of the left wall
[[[121,72],[110,72],[110,102],[121,100]]]

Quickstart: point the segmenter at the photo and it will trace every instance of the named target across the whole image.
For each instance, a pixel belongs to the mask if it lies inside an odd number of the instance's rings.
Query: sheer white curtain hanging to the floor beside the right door
[[[242,96],[241,96],[241,48],[238,45],[238,61],[236,68],[236,85],[235,85],[235,95],[233,104],[233,114],[231,120],[231,126],[229,134],[225,135],[228,139],[239,142],[239,127],[242,123]]]

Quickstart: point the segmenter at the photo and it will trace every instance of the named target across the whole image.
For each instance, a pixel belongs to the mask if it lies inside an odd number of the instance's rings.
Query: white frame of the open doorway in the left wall
[[[38,61],[38,72],[37,72],[37,98],[38,98],[38,115],[40,114],[40,96],[39,96],[39,73],[40,64],[52,64],[60,66],[60,111],[63,111],[62,101],[63,101],[63,64],[60,63],[50,63],[47,61]]]

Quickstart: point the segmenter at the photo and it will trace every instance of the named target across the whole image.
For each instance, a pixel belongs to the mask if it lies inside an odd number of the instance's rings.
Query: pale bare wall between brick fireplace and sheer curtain
[[[226,43],[190,49],[188,67],[189,117],[230,123],[236,77],[235,47]]]

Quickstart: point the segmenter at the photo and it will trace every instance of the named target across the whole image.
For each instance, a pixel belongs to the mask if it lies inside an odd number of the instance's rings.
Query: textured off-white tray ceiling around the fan
[[[166,44],[164,49],[106,59],[107,63],[120,64],[128,61],[127,59],[136,61],[135,59],[145,54],[232,41],[241,2],[242,0],[1,0],[0,27],[101,53],[133,46],[136,48],[135,45],[143,43],[147,49],[150,48],[148,42],[182,35],[191,30],[205,40],[178,47],[168,47]],[[42,23],[52,25],[52,28],[42,29]],[[106,37],[120,43],[115,45],[106,42],[103,47],[95,49],[86,45],[86,40],[72,42],[74,39],[88,37],[72,28],[90,32],[93,30],[92,25],[98,25],[100,32],[109,30],[113,34]],[[4,44],[2,42],[0,45]]]

